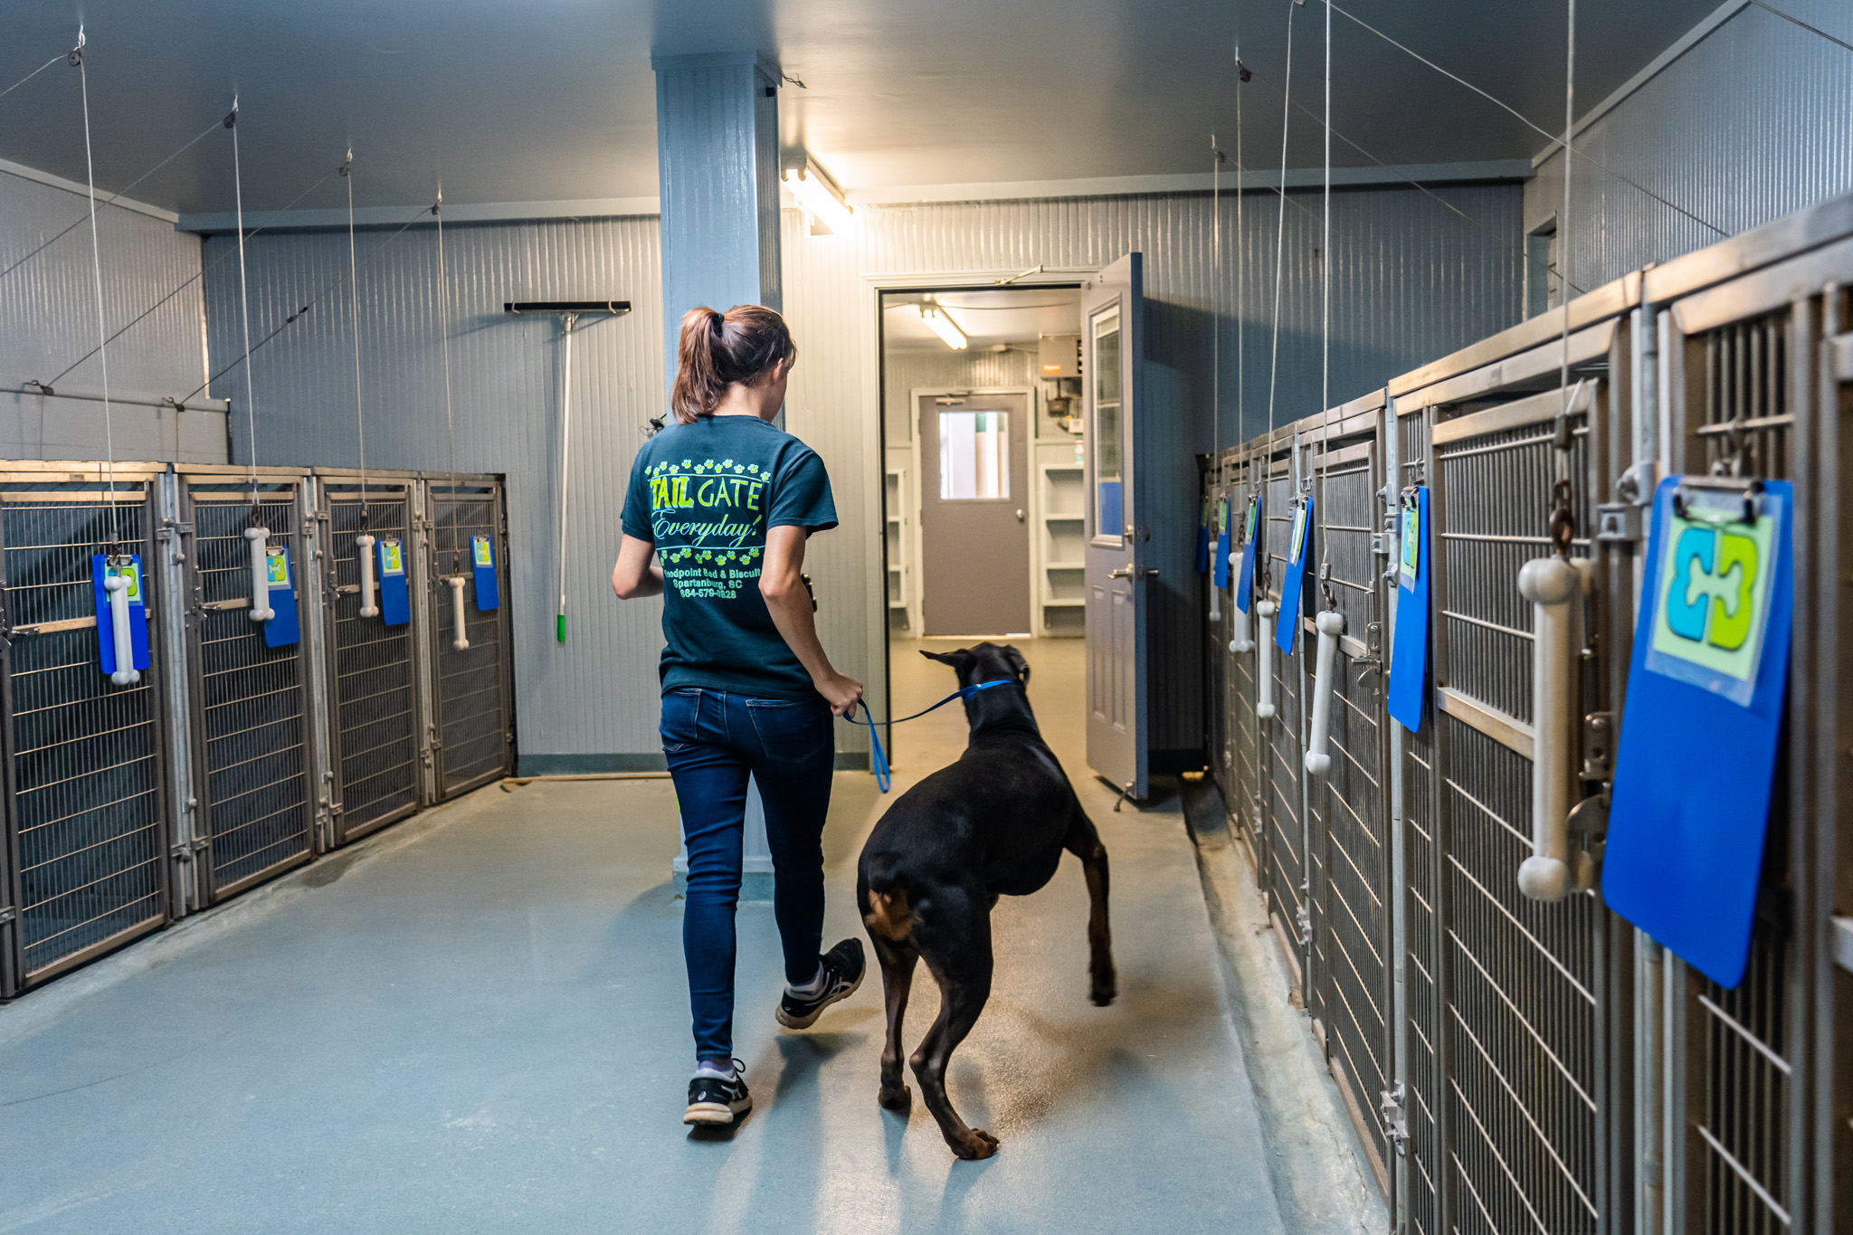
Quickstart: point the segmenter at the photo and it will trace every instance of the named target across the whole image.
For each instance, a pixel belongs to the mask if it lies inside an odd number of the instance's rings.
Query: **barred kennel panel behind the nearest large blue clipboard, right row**
[[[1792,476],[1792,330],[1784,306],[1683,339],[1677,359],[1684,381],[1675,383],[1683,398],[1671,400],[1673,431],[1684,446],[1681,470]],[[1796,544],[1801,567],[1799,531]],[[1805,826],[1792,813],[1790,778],[1779,774],[1744,981],[1727,991],[1681,967],[1684,1007],[1675,1024],[1686,1031],[1671,1048],[1683,1055],[1686,1118],[1684,1144],[1675,1146],[1684,1155],[1684,1192],[1675,1205],[1688,1231],[1807,1229],[1796,1205],[1794,1144],[1797,1102],[1807,1092],[1797,1091],[1807,1061],[1797,1050],[1805,1026],[1796,965],[1796,905],[1807,891],[1797,887],[1794,861],[1797,828]]]

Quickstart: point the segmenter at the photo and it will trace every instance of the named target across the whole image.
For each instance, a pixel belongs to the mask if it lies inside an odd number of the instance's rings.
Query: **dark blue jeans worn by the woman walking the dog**
[[[836,733],[830,707],[678,687],[663,694],[663,755],[689,850],[682,955],[695,1015],[695,1059],[734,1055],[734,905],[747,822],[747,778],[760,785],[773,850],[773,918],[786,981],[817,976],[823,948],[823,820]]]

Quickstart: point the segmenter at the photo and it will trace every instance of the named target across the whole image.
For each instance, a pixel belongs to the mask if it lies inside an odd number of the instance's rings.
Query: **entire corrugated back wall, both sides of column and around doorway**
[[[1334,378],[1347,398],[1421,359],[1510,324],[1519,306],[1518,185],[1436,191],[1469,215],[1466,224],[1414,189],[1345,191],[1332,198]],[[1293,194],[1317,209],[1314,194]],[[1251,276],[1242,296],[1247,331],[1247,418],[1266,424],[1266,344],[1271,311],[1275,224],[1264,196],[1245,207]],[[863,407],[863,315],[875,313],[867,276],[962,270],[1091,270],[1128,250],[1147,254],[1151,415],[1167,441],[1153,459],[1154,485],[1175,493],[1179,522],[1195,511],[1191,452],[1210,450],[1206,378],[1219,306],[1236,306],[1236,206],[1223,200],[1223,278],[1212,270],[1210,198],[1086,198],[871,207],[854,237],[812,237],[786,213],[786,313],[802,350],[786,402],[788,428],[810,443],[836,489],[841,530],[812,546],[819,626],[838,668],[873,681],[884,652],[880,593],[867,580],[880,561],[880,515],[873,474],[880,426]],[[359,252],[363,393],[369,463],[393,468],[447,467],[439,352],[435,233],[419,226],[367,259],[391,231],[367,231]],[[447,228],[452,315],[456,467],[510,478],[511,570],[517,605],[515,681],[524,755],[654,755],[660,615],[650,604],[617,605],[606,576],[619,543],[623,478],[643,441],[647,417],[663,405],[663,324],[654,218],[480,224]],[[206,261],[232,241],[208,243]],[[1288,209],[1279,418],[1317,405],[1317,217]],[[263,235],[246,246],[252,337],[263,339],[347,272],[341,233]],[[558,326],[510,320],[510,298],[630,298],[615,322],[587,324],[574,344],[574,530],[569,642],[552,642],[554,457],[558,452]],[[239,352],[235,267],[208,276],[211,352]],[[354,357],[345,289],[313,304],[254,359],[258,459],[263,463],[358,463]],[[1236,328],[1223,320],[1221,441],[1236,439]],[[233,433],[245,444],[243,376],[230,372],[213,394],[237,400]],[[1199,744],[1195,672],[1195,581],[1188,537],[1173,537],[1158,563],[1166,602],[1154,637],[1175,648],[1154,674],[1156,748]],[[876,700],[880,704],[880,700]],[[839,735],[856,750],[856,735]],[[554,763],[556,767],[571,767]]]

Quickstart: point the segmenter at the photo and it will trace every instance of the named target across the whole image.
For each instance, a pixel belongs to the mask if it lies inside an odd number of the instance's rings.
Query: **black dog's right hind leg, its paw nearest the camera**
[[[958,1116],[945,1092],[945,1068],[991,996],[991,915],[977,894],[964,889],[939,892],[934,900],[936,913],[921,913],[914,939],[939,983],[939,1017],[910,1063],[921,1098],[952,1152],[990,1157],[997,1152],[997,1137]]]

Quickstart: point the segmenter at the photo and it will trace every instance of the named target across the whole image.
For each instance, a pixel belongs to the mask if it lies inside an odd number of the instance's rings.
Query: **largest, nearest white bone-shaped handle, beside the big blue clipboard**
[[[1564,557],[1534,557],[1518,572],[1531,602],[1531,857],[1518,868],[1518,891],[1532,900],[1562,900],[1590,872],[1569,854],[1571,759],[1575,759],[1575,613],[1588,587],[1586,568]]]

